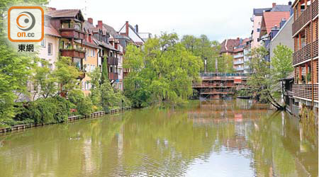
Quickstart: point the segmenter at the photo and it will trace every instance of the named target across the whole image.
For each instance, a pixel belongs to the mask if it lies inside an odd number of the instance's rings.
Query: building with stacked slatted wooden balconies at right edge
[[[318,117],[318,0],[296,0],[293,11],[293,98]]]

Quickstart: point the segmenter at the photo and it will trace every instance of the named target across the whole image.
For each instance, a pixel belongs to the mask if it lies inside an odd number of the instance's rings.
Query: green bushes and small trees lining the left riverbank
[[[45,65],[45,63],[43,63]],[[35,91],[24,95],[35,101],[16,101],[14,111],[0,118],[0,129],[17,125],[45,125],[65,122],[71,116],[89,117],[92,113],[130,108],[121,91],[114,89],[108,76],[102,76],[99,69],[89,73],[91,93],[84,96],[80,90],[79,73],[69,57],[61,57],[53,72],[47,67],[35,67],[30,81]],[[107,72],[106,72],[107,74]]]

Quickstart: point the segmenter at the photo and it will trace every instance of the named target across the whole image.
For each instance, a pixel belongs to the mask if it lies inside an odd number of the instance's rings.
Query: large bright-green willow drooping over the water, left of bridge
[[[128,46],[124,64],[131,69],[125,96],[137,107],[183,103],[192,95],[192,81],[203,67],[201,58],[186,50],[175,33],[147,40],[142,48]]]

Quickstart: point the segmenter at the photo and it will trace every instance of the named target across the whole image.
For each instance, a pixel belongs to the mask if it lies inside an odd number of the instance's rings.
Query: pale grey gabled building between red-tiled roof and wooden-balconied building
[[[287,22],[281,21],[279,31],[269,43],[269,55],[270,58],[274,57],[274,49],[277,45],[286,45],[293,50],[293,38],[291,38],[291,28],[293,23],[293,16],[291,16]],[[277,29],[276,29],[277,30]]]

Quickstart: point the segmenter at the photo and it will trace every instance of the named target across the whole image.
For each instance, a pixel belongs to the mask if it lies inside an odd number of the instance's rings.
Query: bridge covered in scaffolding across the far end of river
[[[198,91],[203,100],[230,99],[235,91],[246,88],[246,74],[230,73],[201,73],[201,82],[194,83],[192,88]]]

